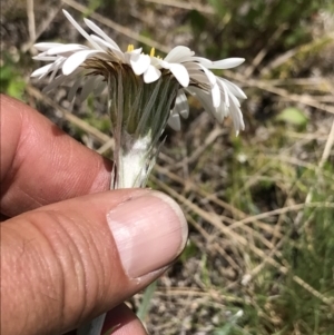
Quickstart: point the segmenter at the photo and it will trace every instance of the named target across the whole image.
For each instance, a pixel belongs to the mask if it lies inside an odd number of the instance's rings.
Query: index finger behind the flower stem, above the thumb
[[[112,164],[31,107],[1,95],[1,213],[107,190]]]

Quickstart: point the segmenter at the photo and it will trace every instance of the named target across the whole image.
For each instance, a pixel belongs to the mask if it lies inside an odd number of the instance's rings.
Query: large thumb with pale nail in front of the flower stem
[[[1,224],[1,334],[57,334],[125,300],[181,252],[187,224],[161,193],[122,189]]]

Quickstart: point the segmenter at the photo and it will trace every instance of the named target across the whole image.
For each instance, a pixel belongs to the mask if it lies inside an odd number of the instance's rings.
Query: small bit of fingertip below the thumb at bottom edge
[[[102,334],[146,335],[146,331],[136,314],[125,304],[108,312]]]

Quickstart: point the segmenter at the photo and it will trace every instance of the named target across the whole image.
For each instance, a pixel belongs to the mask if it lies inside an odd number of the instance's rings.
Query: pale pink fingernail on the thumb
[[[187,240],[188,225],[180,207],[158,191],[122,203],[107,215],[107,220],[130,278],[165,267]]]

